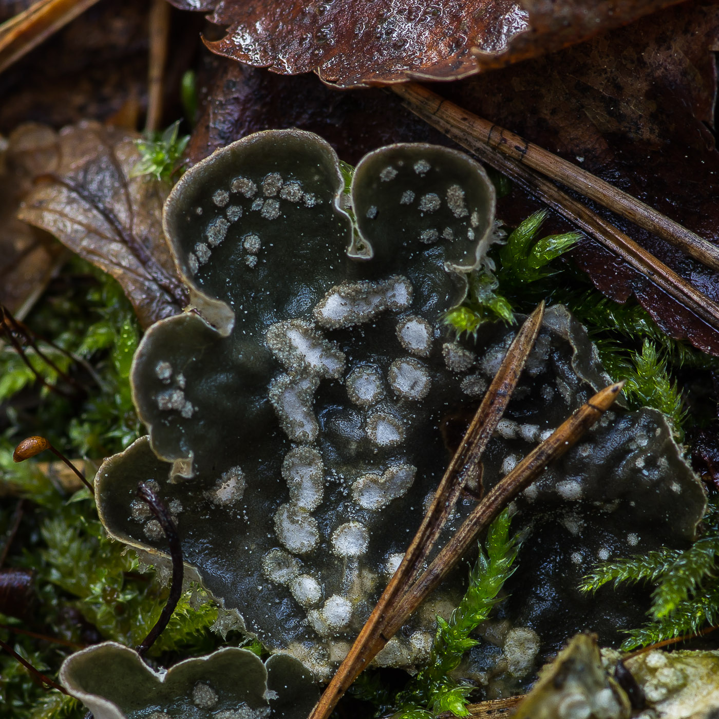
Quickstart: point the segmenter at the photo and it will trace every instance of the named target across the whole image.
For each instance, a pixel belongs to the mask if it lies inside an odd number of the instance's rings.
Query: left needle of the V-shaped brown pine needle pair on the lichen
[[[400,566],[385,587],[385,591],[377,601],[365,626],[362,627],[362,631],[359,632],[349,654],[320,697],[310,719],[329,716],[340,697],[374,656],[372,654],[370,659],[365,659],[367,649],[377,646],[378,642],[384,646],[388,641],[389,636],[385,638],[383,635],[383,627],[390,615],[391,607],[398,603],[408,590],[418,568],[421,567],[441,533],[447,517],[452,513],[452,509],[462,493],[462,487],[472,473],[476,472],[480,456],[503,416],[526,359],[534,346],[543,317],[544,302],[531,313],[514,338],[497,375],[477,409],[475,418],[464,435],[462,444],[444,472],[434,500],[432,500]]]

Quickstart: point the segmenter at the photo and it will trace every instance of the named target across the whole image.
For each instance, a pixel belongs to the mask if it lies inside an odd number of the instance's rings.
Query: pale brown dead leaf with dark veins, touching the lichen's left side
[[[130,177],[137,137],[97,122],[65,127],[18,216],[112,275],[147,327],[178,313],[187,296],[162,232],[169,188]]]

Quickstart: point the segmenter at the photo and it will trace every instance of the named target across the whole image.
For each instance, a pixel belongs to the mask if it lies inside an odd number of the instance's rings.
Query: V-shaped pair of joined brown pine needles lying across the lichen
[[[339,699],[370,661],[388,643],[422,601],[444,579],[465,551],[503,508],[539,476],[544,467],[567,452],[608,408],[623,387],[615,383],[600,390],[580,407],[548,439],[533,449],[516,467],[477,503],[470,515],[429,567],[418,572],[457,503],[462,487],[476,476],[480,457],[510,400],[526,359],[539,333],[544,302],[525,321],[513,340],[502,365],[487,390],[464,439],[452,457],[436,489],[420,527],[400,566],[393,574],[377,605],[346,658],[327,685],[309,719],[327,719]]]

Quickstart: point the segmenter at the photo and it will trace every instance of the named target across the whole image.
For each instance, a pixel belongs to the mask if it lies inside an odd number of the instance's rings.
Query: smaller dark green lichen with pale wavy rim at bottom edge
[[[319,692],[307,670],[276,654],[226,647],[157,674],[106,642],[70,656],[60,681],[96,719],[305,719]]]

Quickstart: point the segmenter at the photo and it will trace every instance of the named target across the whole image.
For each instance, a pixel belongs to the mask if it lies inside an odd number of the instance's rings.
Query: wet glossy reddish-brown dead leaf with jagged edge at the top
[[[464,78],[677,0],[170,0],[227,27],[218,55],[339,87]],[[477,52],[480,63],[477,63]]]

